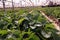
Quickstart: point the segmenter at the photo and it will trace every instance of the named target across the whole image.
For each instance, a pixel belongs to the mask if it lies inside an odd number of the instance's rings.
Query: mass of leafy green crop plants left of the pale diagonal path
[[[52,23],[38,10],[32,13],[11,12],[0,15],[0,40],[55,40],[60,37]]]

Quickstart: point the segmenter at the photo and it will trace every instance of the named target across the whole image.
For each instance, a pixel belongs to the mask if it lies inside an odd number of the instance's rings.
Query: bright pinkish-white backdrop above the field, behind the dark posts
[[[50,4],[50,1],[53,2],[53,4],[60,4],[60,0],[13,0],[15,7],[25,7],[25,6],[46,6]],[[11,0],[5,1],[6,7],[12,7]],[[0,7],[2,7],[2,2],[0,1]]]

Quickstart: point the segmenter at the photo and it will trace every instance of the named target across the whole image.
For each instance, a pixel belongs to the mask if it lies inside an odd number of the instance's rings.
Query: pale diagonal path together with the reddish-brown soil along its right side
[[[49,20],[50,22],[52,22],[52,24],[55,26],[55,28],[57,29],[57,30],[59,30],[60,31],[60,23],[58,22],[58,20],[57,19],[55,19],[54,17],[53,18],[51,18],[51,17],[49,17],[49,16],[47,16],[44,12],[42,12],[42,11],[40,11],[41,12],[41,14],[47,19],[47,20]]]

